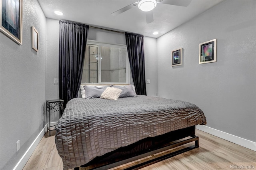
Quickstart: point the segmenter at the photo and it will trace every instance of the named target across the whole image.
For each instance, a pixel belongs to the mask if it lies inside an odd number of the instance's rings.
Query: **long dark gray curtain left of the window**
[[[66,20],[59,24],[59,96],[65,108],[79,91],[89,26]]]

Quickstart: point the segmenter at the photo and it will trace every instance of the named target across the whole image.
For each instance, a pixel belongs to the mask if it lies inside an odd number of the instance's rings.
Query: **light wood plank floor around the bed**
[[[48,132],[49,133],[49,132]],[[23,170],[63,170],[52,136],[45,134]],[[256,169],[256,152],[196,129],[199,148],[174,156],[142,170],[230,170]],[[134,162],[136,164],[136,162]],[[232,168],[233,166],[233,168]],[[246,167],[248,166],[248,167]],[[125,166],[112,168],[121,170]],[[254,167],[254,168],[253,168]],[[80,168],[80,170],[84,170]]]

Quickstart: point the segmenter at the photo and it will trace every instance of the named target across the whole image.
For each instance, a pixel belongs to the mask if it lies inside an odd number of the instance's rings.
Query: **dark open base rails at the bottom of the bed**
[[[130,166],[124,170],[138,170],[140,168],[143,168],[143,167],[146,167],[146,166],[149,166],[151,164],[154,164],[156,162],[160,162],[162,160],[165,160],[165,159],[168,159],[168,158],[171,158],[173,156],[176,156],[178,154],[182,154],[184,152],[187,152],[189,150],[192,150],[192,149],[195,149],[195,148],[198,148],[199,147],[199,138],[198,136],[194,135],[194,136],[191,136],[192,138],[189,138],[189,139],[184,139],[182,141],[178,141],[178,142],[175,142],[173,144],[170,144],[169,146],[165,146],[163,148],[159,148],[159,149],[156,149],[156,150],[152,150],[150,152],[147,152],[147,153],[144,153],[144,154],[140,154],[138,156],[134,156],[132,158],[128,158],[128,159],[125,159],[125,160],[120,160],[118,162],[114,162],[112,164],[106,164],[106,165],[103,165],[103,166],[98,166],[96,168],[92,168],[90,170],[106,170],[106,169],[110,169],[110,168],[114,168],[116,166],[120,166],[120,165],[123,165],[123,164],[126,164],[126,163],[129,163],[129,162],[132,162],[134,160],[138,160],[138,159],[141,159],[141,158],[145,158],[147,156],[150,156],[150,155],[153,155],[153,154],[157,154],[159,152],[162,152],[162,151],[165,151],[165,150],[168,150],[168,149],[171,149],[171,148],[175,148],[175,147],[178,147],[178,146],[182,146],[184,144],[187,144],[187,143],[190,143],[190,142],[195,142],[194,145],[192,146],[189,146],[189,147],[186,147],[186,148],[183,148],[183,149],[180,149],[180,150],[177,150],[175,152],[171,152],[169,154],[166,154],[166,155],[163,155],[163,156],[159,156],[159,157],[156,157],[152,160],[148,160],[146,162],[142,162],[140,164],[136,164],[134,166]],[[74,170],[78,170],[78,168],[75,168]]]

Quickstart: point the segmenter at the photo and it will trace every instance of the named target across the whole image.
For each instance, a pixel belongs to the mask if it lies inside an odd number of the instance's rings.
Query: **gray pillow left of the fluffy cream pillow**
[[[92,85],[84,85],[85,97],[86,99],[99,98],[100,95],[104,92],[104,90],[109,87],[108,85],[104,86],[92,86]]]

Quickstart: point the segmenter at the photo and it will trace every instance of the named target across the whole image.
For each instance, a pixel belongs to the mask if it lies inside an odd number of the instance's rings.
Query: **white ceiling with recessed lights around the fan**
[[[158,38],[180,26],[222,0],[192,0],[187,7],[157,4],[153,10],[154,22],[146,23],[146,12],[138,6],[117,16],[111,13],[130,5],[136,0],[38,0],[46,18],[70,20],[122,32],[133,32]],[[57,16],[55,10],[64,15]],[[159,32],[153,35],[153,32]]]

